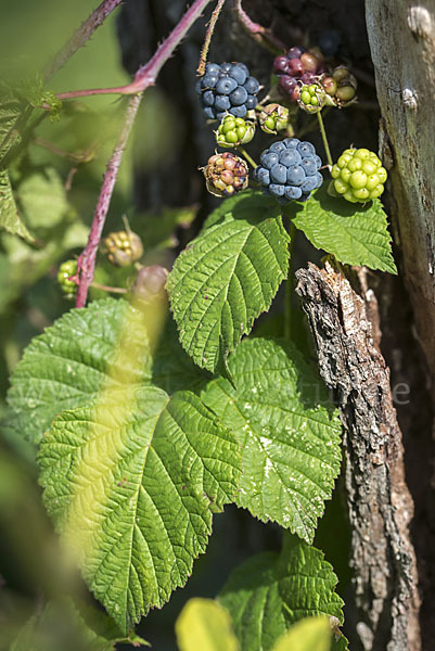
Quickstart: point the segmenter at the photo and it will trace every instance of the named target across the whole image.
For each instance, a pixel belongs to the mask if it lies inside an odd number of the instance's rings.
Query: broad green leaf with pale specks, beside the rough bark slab
[[[242,447],[236,503],[311,541],[340,472],[337,412],[292,343],[244,340],[229,370],[233,384],[216,378],[202,397]]]

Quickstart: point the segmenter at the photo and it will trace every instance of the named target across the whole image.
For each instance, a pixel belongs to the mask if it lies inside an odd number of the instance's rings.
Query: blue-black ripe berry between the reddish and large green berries
[[[312,190],[323,182],[319,171],[321,165],[314,144],[300,142],[297,138],[285,138],[273,142],[263,152],[254,178],[265,194],[270,194],[280,203],[293,199],[307,201]]]

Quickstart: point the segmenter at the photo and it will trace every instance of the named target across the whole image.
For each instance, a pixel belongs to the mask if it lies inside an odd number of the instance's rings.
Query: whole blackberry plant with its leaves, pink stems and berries
[[[53,617],[66,638],[79,631],[77,648],[89,640],[89,649],[104,651],[117,642],[145,644],[136,625],[187,584],[206,551],[213,519],[226,505],[269,527],[274,523],[281,548],[234,567],[215,600],[194,599],[183,608],[176,624],[180,650],[217,649],[218,640],[226,651],[285,651],[303,648],[307,639],[315,640],[310,651],[348,649],[337,577],[314,545],[341,473],[346,419],[307,352],[293,286],[295,242],[305,237],[328,255],[320,276],[332,266],[337,275],[346,266],[397,270],[379,199],[386,168],[363,146],[349,146],[335,164],[331,155],[323,116],[343,115],[336,108],[356,102],[350,64],[337,66],[331,59],[340,35],[330,30],[320,38],[328,58],[318,47],[277,51],[271,30],[234,2],[244,27],[274,47],[273,78],[258,80],[244,62],[207,62],[219,0],[207,24],[197,98],[191,85],[203,128],[215,129],[216,150],[207,152],[205,166],[195,163],[187,195],[191,201],[207,190],[222,201],[213,200],[214,209],[178,255],[195,205],[133,215],[137,232],[105,224],[130,130],[150,97],[144,91],[158,86],[162,66],[208,3],[195,0],[187,8],[129,84],[54,93],[52,75],[119,4],[105,0],[30,90],[12,85],[0,97],[4,247],[20,260],[26,242],[33,247],[29,268],[49,286],[56,276],[63,294],[76,301],[26,346],[12,374],[4,431],[13,445],[26,442],[31,449],[62,550],[105,609],[104,623],[94,624],[74,590],[61,599],[53,589],[52,600],[38,605],[12,642],[13,651],[34,649],[33,638],[44,640],[47,628],[57,636],[47,625]],[[191,58],[185,61],[191,65]],[[92,220],[80,221],[84,187],[75,208],[71,189],[99,145],[92,141],[71,154],[38,129],[46,113],[59,115],[61,125],[71,116],[82,119],[82,105],[69,101],[104,92],[129,100],[116,104],[124,110],[121,128]],[[321,155],[309,140],[317,128]],[[348,138],[358,140],[358,129]],[[68,174],[61,166],[42,173],[30,144],[74,167]],[[180,165],[187,159],[183,155]],[[117,208],[113,213],[116,224]],[[181,229],[184,240],[178,239]],[[38,247],[48,233],[53,244],[41,264]],[[21,239],[18,253],[13,237]],[[77,259],[56,272],[60,259],[74,257],[77,242],[84,246]],[[28,279],[27,266],[23,277]],[[338,306],[335,285],[328,286],[330,307],[335,301],[343,316],[348,306]],[[116,297],[102,297],[103,292]],[[320,302],[317,294],[314,301]],[[272,304],[274,316],[258,324]],[[42,320],[37,310],[29,314]],[[65,647],[65,637],[53,639],[50,648]]]

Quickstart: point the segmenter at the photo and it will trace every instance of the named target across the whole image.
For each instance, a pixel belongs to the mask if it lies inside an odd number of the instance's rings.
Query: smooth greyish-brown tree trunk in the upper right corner
[[[419,337],[435,373],[435,1],[367,0],[394,216]]]

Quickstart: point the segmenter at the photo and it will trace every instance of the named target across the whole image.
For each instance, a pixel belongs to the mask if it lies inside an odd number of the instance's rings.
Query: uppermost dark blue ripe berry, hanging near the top
[[[208,63],[205,75],[196,82],[204,113],[221,119],[226,113],[244,117],[257,105],[259,84],[244,63]]]

